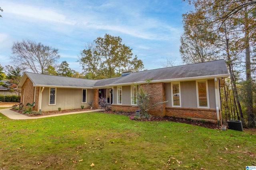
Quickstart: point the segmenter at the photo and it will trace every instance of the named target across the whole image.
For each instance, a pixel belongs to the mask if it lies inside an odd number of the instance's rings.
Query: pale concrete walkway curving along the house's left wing
[[[70,112],[70,113],[61,113],[61,114],[54,114],[54,115],[46,115],[46,116],[36,116],[36,117],[28,117],[26,115],[22,115],[20,113],[11,111],[10,109],[0,109],[0,113],[5,115],[6,117],[10,119],[40,119],[44,117],[54,117],[54,116],[61,116],[61,115],[71,115],[71,114],[76,114],[76,113],[88,113],[88,112],[100,112],[104,111],[103,109],[95,109],[95,110],[87,110],[87,111],[79,111],[79,112]]]

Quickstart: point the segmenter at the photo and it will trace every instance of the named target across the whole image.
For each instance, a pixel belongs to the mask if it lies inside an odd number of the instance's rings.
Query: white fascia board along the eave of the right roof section
[[[229,74],[222,74],[222,75],[209,75],[209,76],[198,76],[198,77],[185,77],[185,78],[178,78],[178,79],[162,79],[162,80],[152,80],[150,83],[167,83],[171,81],[191,81],[191,80],[198,80],[198,79],[214,79],[214,78],[221,78],[221,77],[229,77]],[[132,84],[145,84],[145,81],[138,81],[138,82],[131,82],[131,83],[119,83],[119,84],[109,84],[106,86],[118,86],[118,85],[132,85]]]

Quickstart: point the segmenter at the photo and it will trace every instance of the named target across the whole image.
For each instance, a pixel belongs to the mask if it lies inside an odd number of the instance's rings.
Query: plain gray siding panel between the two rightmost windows
[[[180,82],[181,107],[197,108],[196,81]]]

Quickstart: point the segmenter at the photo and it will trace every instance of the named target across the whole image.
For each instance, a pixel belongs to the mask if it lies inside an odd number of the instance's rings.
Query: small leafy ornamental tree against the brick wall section
[[[150,118],[150,114],[148,113],[148,111],[150,111],[153,107],[155,107],[158,104],[162,104],[162,103],[167,103],[168,101],[161,101],[158,103],[152,103],[151,102],[151,95],[150,93],[148,93],[148,86],[150,81],[152,81],[151,79],[145,79],[146,81],[146,89],[143,89],[141,87],[141,85],[136,85],[138,86],[138,90],[136,91],[136,96],[132,97],[132,100],[134,102],[137,103],[137,106],[134,107],[139,107],[140,108],[140,118]]]

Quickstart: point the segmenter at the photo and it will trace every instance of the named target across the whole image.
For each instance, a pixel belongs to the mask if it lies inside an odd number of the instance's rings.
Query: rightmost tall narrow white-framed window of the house
[[[208,107],[208,88],[207,81],[197,82],[197,97],[198,97],[198,107]]]

